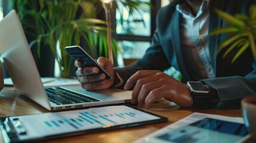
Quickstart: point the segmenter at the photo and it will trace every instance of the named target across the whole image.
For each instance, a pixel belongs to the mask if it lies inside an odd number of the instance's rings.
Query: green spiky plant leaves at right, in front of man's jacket
[[[226,49],[223,58],[235,48],[239,48],[232,63],[247,49],[251,48],[252,55],[256,60],[256,5],[249,7],[249,14],[235,14],[230,15],[224,11],[214,9],[214,12],[223,18],[228,24],[224,27],[218,27],[209,33],[209,35],[218,35],[220,33],[227,33],[232,36],[221,42],[218,46],[218,52]],[[229,45],[229,46],[228,46]]]

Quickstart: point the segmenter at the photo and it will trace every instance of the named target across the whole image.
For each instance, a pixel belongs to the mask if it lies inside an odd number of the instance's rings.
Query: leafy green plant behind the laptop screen
[[[97,18],[102,12],[99,0],[14,0],[26,35],[35,40],[30,46],[37,44],[40,56],[42,45],[48,46],[58,61],[60,77],[70,77],[73,60],[64,51],[65,46],[80,45],[85,41],[87,51],[98,56],[107,55],[106,21]],[[114,1],[113,5],[117,1]],[[121,1],[130,13],[144,10],[148,2],[138,0]],[[118,7],[117,7],[118,8]],[[104,14],[103,14],[104,15]],[[119,50],[112,39],[113,54]]]

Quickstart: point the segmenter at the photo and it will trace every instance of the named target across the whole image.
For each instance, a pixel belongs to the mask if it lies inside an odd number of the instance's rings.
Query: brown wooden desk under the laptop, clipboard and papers
[[[144,109],[152,113],[159,114],[169,118],[168,122],[157,123],[146,126],[137,126],[133,128],[110,130],[106,132],[90,133],[87,135],[71,136],[67,138],[53,139],[45,142],[132,142],[141,138],[155,130],[161,129],[183,117],[188,116],[194,112],[219,114],[230,117],[242,117],[240,109],[232,110],[193,110],[191,108],[180,108],[177,105],[165,101],[158,100],[150,109]],[[4,88],[0,92],[0,116],[14,116],[23,114],[38,114],[48,112],[41,105],[29,100],[28,98],[19,95],[14,91],[14,88]],[[0,139],[2,136],[0,134]],[[1,142],[1,140],[0,140]]]

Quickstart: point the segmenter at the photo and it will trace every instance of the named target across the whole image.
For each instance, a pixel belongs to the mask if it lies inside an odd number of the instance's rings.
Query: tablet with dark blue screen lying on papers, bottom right
[[[155,136],[158,142],[237,142],[248,135],[242,123],[205,118]]]

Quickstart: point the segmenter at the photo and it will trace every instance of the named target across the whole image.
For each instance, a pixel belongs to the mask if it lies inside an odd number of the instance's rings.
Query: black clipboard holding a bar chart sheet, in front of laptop
[[[5,117],[1,133],[5,142],[38,142],[166,121],[166,117],[130,105],[112,105]]]

